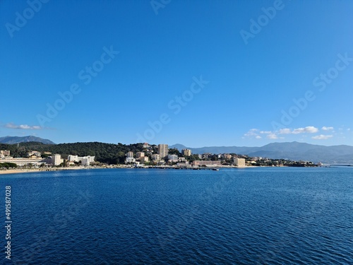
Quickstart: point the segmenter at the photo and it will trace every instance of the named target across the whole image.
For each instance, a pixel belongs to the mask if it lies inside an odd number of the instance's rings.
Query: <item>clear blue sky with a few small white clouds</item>
[[[0,136],[353,146],[352,1],[0,1]]]

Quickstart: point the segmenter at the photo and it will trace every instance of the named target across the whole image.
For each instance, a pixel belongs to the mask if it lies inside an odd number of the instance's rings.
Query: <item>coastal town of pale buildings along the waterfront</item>
[[[25,157],[13,157],[11,151],[0,151],[0,169],[40,169],[59,170],[61,168],[95,168],[95,167],[159,167],[184,169],[214,169],[217,167],[315,167],[310,161],[292,161],[285,159],[270,159],[249,157],[235,153],[202,153],[193,154],[191,149],[169,148],[167,144],[158,145],[140,143],[136,152],[128,151],[124,154],[123,163],[104,163],[96,159],[95,155],[73,155],[51,153],[49,151],[28,151]]]

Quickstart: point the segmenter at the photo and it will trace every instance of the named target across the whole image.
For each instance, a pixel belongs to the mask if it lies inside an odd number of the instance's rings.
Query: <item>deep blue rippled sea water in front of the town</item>
[[[1,175],[4,204],[6,186],[4,264],[353,264],[349,167]]]

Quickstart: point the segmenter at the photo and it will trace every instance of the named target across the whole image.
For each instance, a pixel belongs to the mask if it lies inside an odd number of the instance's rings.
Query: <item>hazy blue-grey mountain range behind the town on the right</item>
[[[181,144],[170,146],[178,150],[187,148]],[[319,146],[310,143],[269,143],[261,147],[209,146],[188,148],[192,153],[237,153],[253,157],[309,160],[314,163],[353,164],[353,146]]]

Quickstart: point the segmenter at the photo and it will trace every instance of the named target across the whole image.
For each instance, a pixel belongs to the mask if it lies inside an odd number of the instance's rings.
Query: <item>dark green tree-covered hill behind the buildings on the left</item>
[[[128,151],[133,153],[143,150],[142,143],[134,143],[124,145],[122,143],[59,143],[59,144],[44,144],[38,142],[6,144],[0,143],[0,150],[9,150],[11,156],[26,157],[29,151],[59,153],[63,158],[68,155],[95,155],[95,160],[102,163],[116,164],[124,163],[125,154]]]

